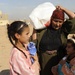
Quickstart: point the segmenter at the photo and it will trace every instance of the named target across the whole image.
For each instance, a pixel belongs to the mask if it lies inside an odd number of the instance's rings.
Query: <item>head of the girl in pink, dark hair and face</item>
[[[14,45],[15,43],[28,43],[29,41],[29,27],[25,22],[14,21],[7,26],[7,32],[10,42]]]

